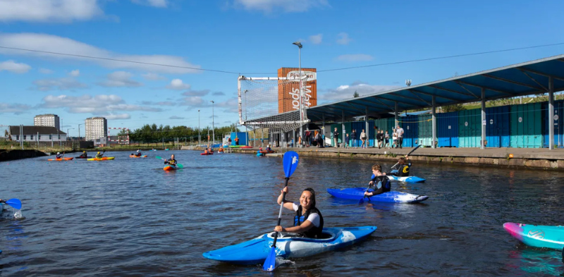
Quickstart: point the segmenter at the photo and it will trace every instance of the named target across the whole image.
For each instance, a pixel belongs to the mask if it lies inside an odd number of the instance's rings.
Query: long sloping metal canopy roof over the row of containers
[[[398,113],[427,109],[432,107],[433,96],[436,106],[481,101],[482,88],[486,101],[541,94],[548,92],[549,77],[553,78],[554,92],[564,90],[564,54],[314,106],[307,109],[307,118],[321,121],[325,115],[325,121],[340,122],[344,113],[347,121],[366,115],[366,109],[369,116],[379,116],[393,112],[396,101]]]

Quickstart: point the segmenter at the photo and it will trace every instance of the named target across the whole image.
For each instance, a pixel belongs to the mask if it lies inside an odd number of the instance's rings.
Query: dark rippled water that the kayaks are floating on
[[[281,158],[245,154],[106,152],[114,161],[0,163],[0,198],[19,198],[24,218],[0,219],[0,276],[264,276],[202,253],[244,242],[276,225]],[[185,169],[162,170],[176,154]],[[76,154],[78,156],[78,154]],[[423,184],[393,190],[423,204],[358,205],[326,193],[362,186],[374,161],[302,157],[288,199],[317,192],[326,226],[378,229],[357,245],[293,259],[275,276],[564,276],[561,253],[527,247],[504,222],[564,223],[564,173],[415,162]],[[381,163],[389,168],[394,163]],[[283,226],[290,224],[290,211]]]

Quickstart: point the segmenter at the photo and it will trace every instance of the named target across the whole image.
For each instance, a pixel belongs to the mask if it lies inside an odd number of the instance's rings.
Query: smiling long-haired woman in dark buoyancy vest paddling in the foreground
[[[283,193],[288,193],[288,187],[284,187],[278,196],[278,204],[282,203]],[[276,232],[300,233],[306,238],[321,238],[323,231],[323,216],[315,207],[315,191],[308,187],[302,192],[299,203],[284,201],[284,208],[295,211],[294,226],[283,228],[276,226]]]

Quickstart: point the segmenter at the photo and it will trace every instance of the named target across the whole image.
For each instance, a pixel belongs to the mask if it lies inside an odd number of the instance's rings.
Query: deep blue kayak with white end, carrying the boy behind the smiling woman
[[[328,188],[327,192],[337,198],[353,199],[360,201],[364,199],[364,192],[366,187],[350,187],[350,188]],[[373,190],[368,190],[372,192]],[[374,202],[391,202],[391,203],[419,203],[427,200],[427,195],[412,195],[405,192],[384,192],[380,195],[367,197],[364,200]]]

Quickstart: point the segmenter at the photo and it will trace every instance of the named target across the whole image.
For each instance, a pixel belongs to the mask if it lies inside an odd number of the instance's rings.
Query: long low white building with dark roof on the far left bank
[[[66,141],[66,133],[50,126],[9,126],[8,133],[11,140],[18,142],[20,139],[24,142]]]

